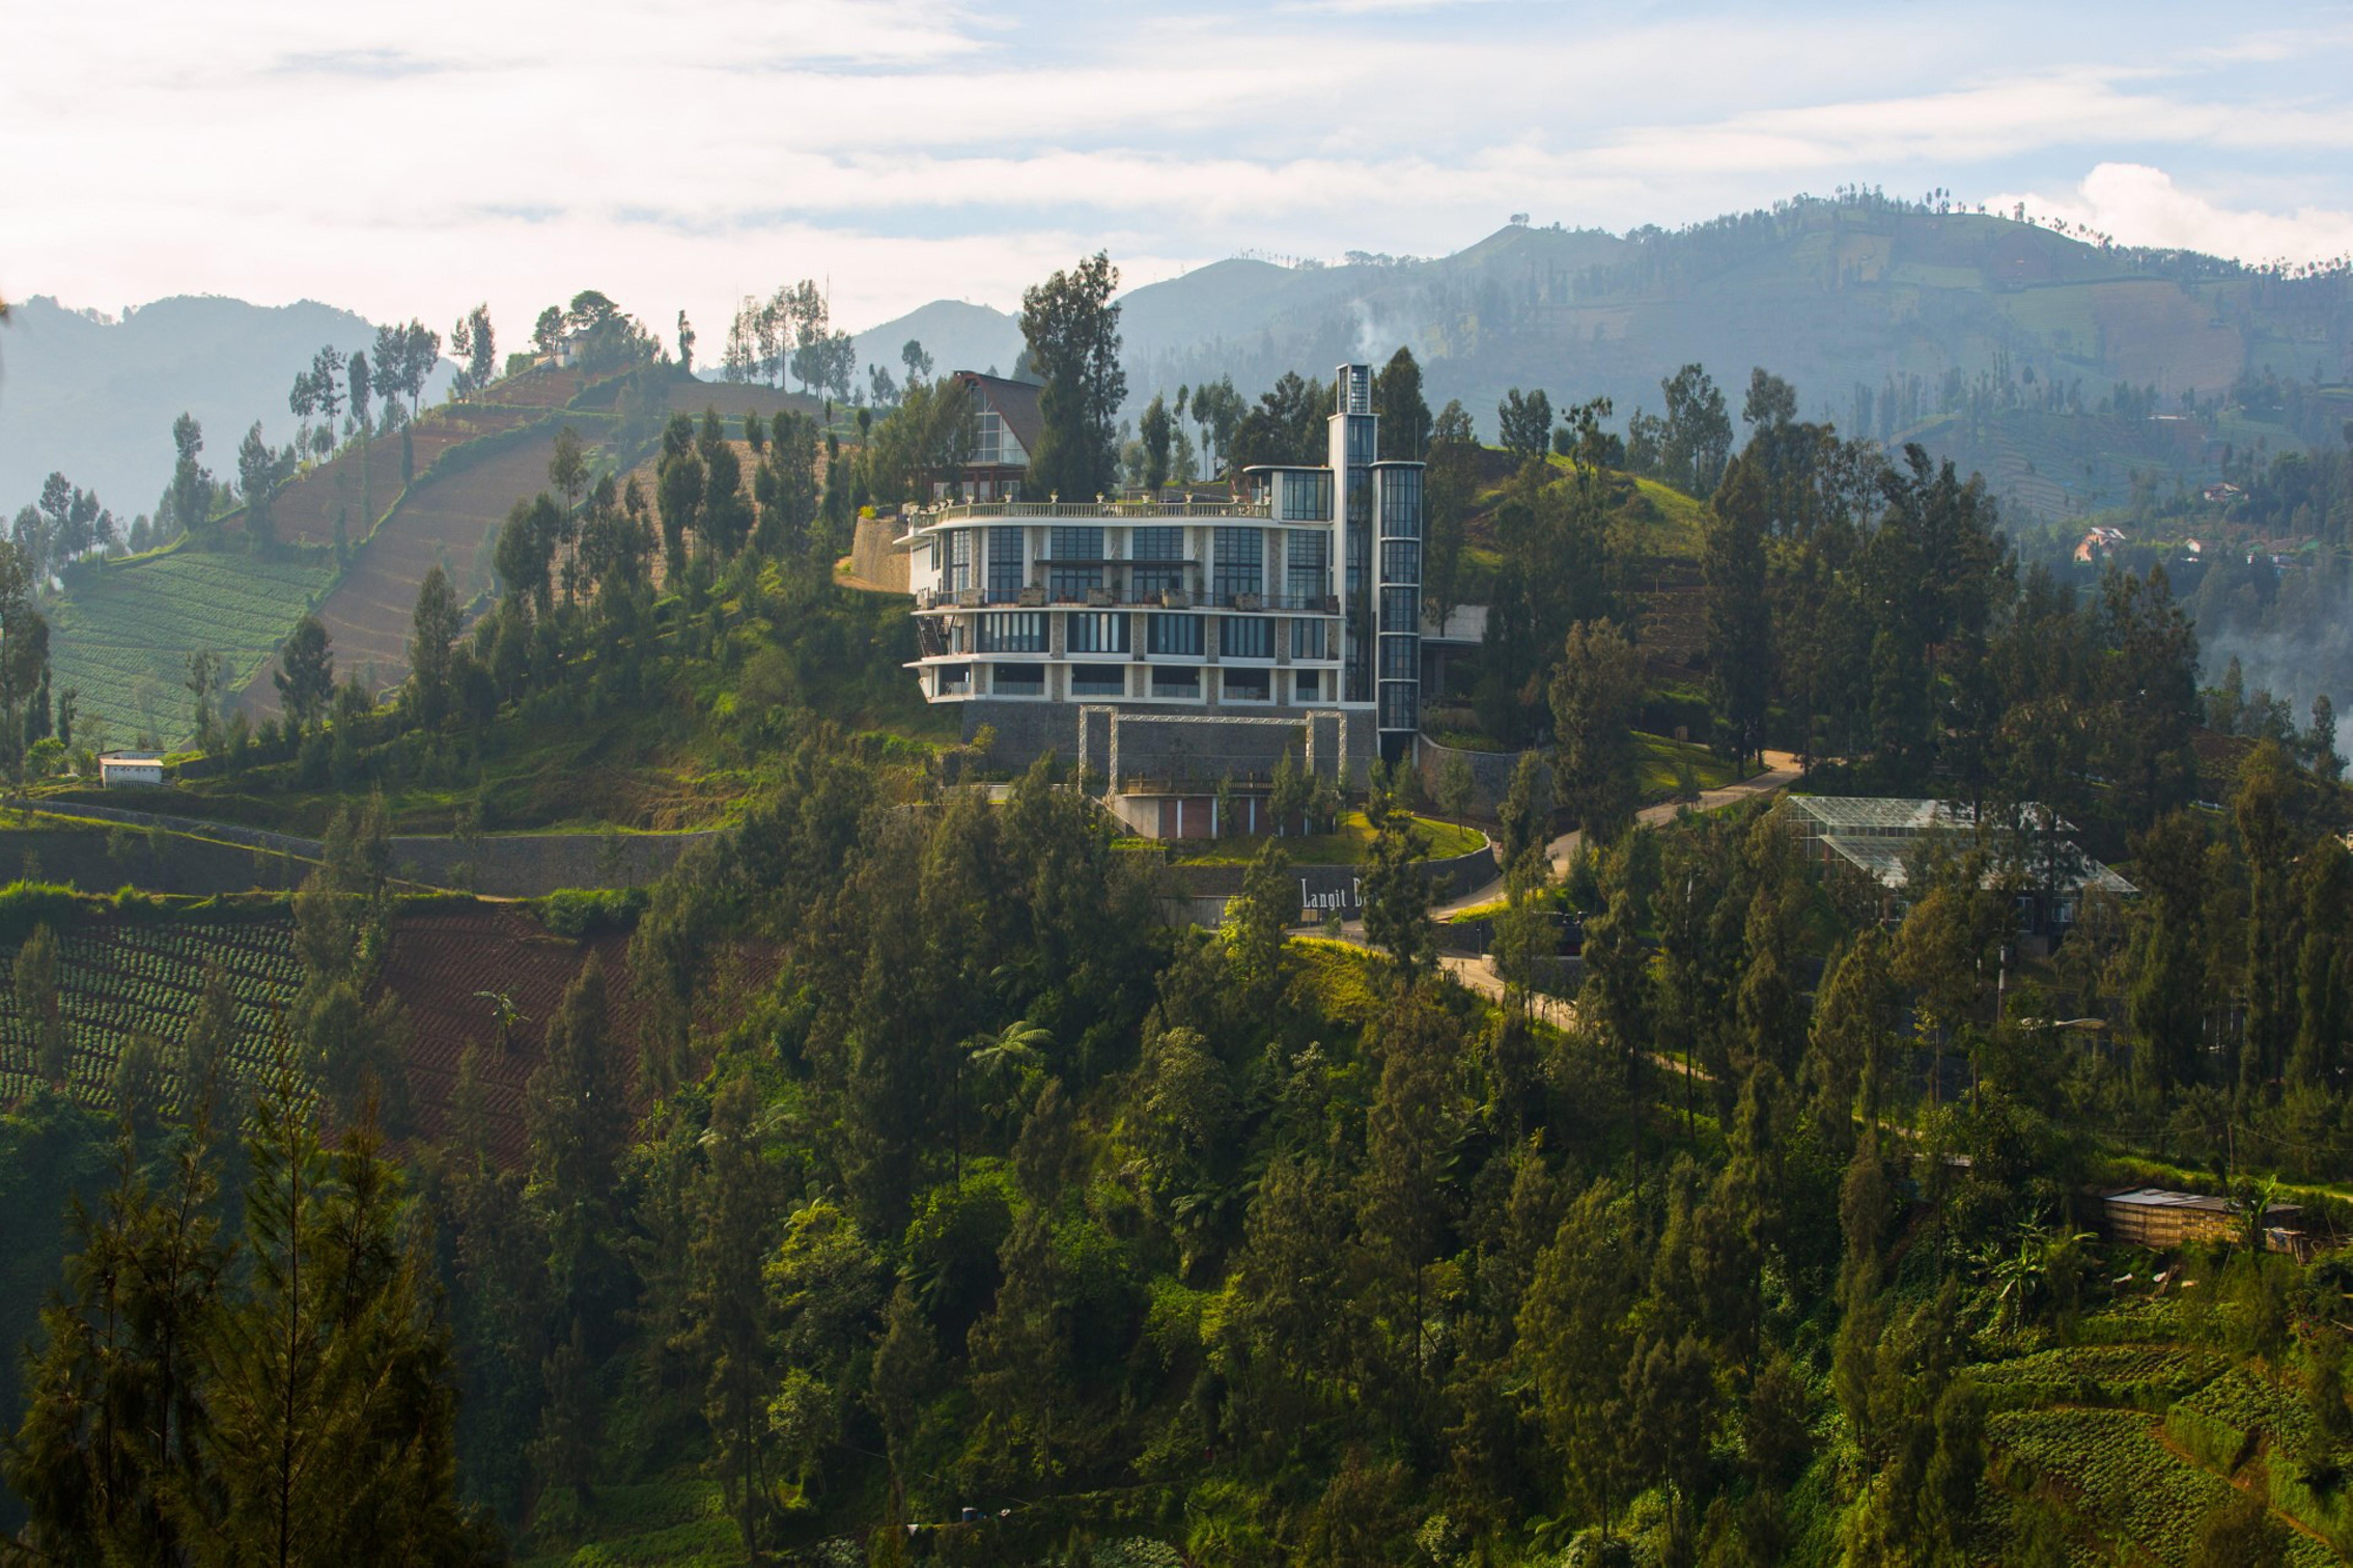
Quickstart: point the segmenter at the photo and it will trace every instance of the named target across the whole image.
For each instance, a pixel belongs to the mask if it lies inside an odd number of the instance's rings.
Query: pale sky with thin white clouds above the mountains
[[[2245,19],[2249,31],[2233,31]],[[1447,254],[1840,184],[2242,259],[2353,252],[2353,7],[118,0],[16,7],[0,297],[447,325],[612,294],[713,358],[1240,252]]]

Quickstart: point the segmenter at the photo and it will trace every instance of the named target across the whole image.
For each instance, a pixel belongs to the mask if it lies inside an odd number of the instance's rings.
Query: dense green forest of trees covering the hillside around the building
[[[1073,492],[1120,464],[1113,283],[1082,264],[1026,318]],[[772,358],[758,311],[736,337],[746,374]],[[1360,930],[1299,930],[1280,838],[1205,930],[1165,921],[1160,862],[1052,763],[991,803],[972,746],[847,727],[845,692],[904,678],[833,582],[847,523],[969,438],[908,370],[861,443],[675,417],[652,485],[551,471],[487,612],[426,579],[395,704],[296,636],[285,718],[212,730],[242,791],[341,798],[271,1038],[231,1038],[224,984],[104,1104],[75,1097],[64,916],[0,909],[24,928],[5,1045],[38,1081],[0,1116],[0,1205],[61,1215],[7,1260],[12,1300],[49,1304],[0,1559],[2205,1566],[2353,1542],[2341,760],[2332,730],[2214,725],[2162,565],[2082,589],[2026,563],[1984,485],[1800,421],[1767,372],[1739,445],[1692,367],[1647,450],[1607,405],[1539,421],[1522,393],[1492,452],[1398,356],[1379,398],[1433,464],[1433,537],[1489,551],[1473,704],[1525,749],[1487,996],[1400,873],[1414,786],[1386,770]],[[1329,396],[1226,391],[1198,424],[1228,461],[1299,450]],[[1812,793],[1972,808],[1899,902],[1805,857],[1769,800],[1635,819],[1661,692],[1628,469],[1704,518],[1701,739],[1795,751]],[[38,662],[16,683],[31,702]],[[501,735],[640,711],[760,758],[753,798],[598,906],[628,1005],[586,956],[520,1149],[489,1132],[492,1036],[414,1137],[374,791],[464,789]],[[2052,930],[2021,911],[2066,876],[2061,831],[2137,892]],[[1553,996],[1562,925],[1579,982]],[[2184,1255],[2101,1241],[2097,1194],[2144,1184],[2238,1208]],[[2278,1203],[2313,1257],[2266,1243]]]

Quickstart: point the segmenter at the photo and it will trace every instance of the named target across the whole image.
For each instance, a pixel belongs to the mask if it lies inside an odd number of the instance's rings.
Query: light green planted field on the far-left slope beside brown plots
[[[278,652],[294,622],[334,582],[327,560],[266,560],[176,549],[111,565],[80,582],[52,617],[52,687],[80,690],[85,725],[129,744],[153,735],[165,746],[193,732],[184,690],[191,652],[228,662],[231,690]]]

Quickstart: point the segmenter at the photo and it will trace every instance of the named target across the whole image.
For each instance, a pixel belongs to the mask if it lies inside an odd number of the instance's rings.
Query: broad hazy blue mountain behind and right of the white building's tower
[[[1607,396],[1624,428],[1635,407],[1659,412],[1659,381],[1694,360],[1737,417],[1762,365],[1798,386],[1807,419],[1979,459],[2040,516],[2122,499],[2151,461],[2141,447],[2179,473],[2221,450],[2106,428],[2118,384],[2146,419],[2245,377],[2353,381],[2344,273],[2280,278],[1875,198],[1626,238],[1513,226],[1435,261],[1221,261],[1120,304],[1129,412],[1153,391],[1231,374],[1257,396],[1287,370],[1329,377],[1402,344],[1433,412],[1461,398],[1492,440],[1513,386],[1555,407]],[[2151,386],[2153,403],[2139,396]],[[2033,450],[1988,447],[1988,417],[2009,410],[2042,417]]]

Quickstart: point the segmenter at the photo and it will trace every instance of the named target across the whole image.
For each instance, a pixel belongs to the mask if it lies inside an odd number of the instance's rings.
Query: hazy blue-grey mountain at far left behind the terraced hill
[[[108,320],[35,294],[0,327],[0,506],[12,516],[54,469],[125,520],[155,511],[172,478],[172,419],[195,414],[205,466],[233,476],[254,419],[271,443],[294,438],[287,388],[313,353],[374,339],[367,320],[308,299],[179,297]]]

